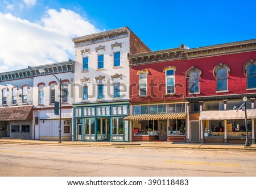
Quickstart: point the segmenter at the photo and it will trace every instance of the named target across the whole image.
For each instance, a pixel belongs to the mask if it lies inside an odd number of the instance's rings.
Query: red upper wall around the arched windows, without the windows
[[[185,66],[187,69],[191,68],[191,66],[197,66],[201,69],[202,77],[199,79],[200,94],[197,94],[198,96],[255,93],[256,90],[246,91],[246,75],[243,73],[243,65],[250,59],[256,59],[256,52],[234,53],[230,55],[186,60]],[[216,93],[217,83],[216,77],[213,76],[213,69],[220,62],[230,67],[230,74],[228,75],[229,92],[226,93]],[[188,95],[188,97],[192,96]]]

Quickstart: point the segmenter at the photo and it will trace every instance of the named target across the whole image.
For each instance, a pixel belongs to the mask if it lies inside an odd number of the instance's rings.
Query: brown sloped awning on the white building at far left
[[[0,108],[0,120],[32,120],[33,106],[11,106]]]

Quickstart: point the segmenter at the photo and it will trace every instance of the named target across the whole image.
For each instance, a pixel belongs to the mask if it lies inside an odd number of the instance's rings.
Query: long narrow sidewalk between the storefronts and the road
[[[137,148],[161,148],[161,149],[205,149],[205,150],[244,150],[256,151],[256,144],[251,147],[244,147],[243,144],[191,144],[191,143],[172,143],[172,142],[85,142],[85,141],[41,141],[41,140],[22,140],[22,139],[0,139],[0,144],[30,144],[30,145],[65,145],[72,147],[137,147]]]

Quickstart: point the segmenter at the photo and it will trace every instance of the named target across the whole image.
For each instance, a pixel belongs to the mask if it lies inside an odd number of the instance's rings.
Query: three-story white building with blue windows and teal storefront
[[[130,141],[127,53],[150,49],[127,27],[73,39],[74,140]]]

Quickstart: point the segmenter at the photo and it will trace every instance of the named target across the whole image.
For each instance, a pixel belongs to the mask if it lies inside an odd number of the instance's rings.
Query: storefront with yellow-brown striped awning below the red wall
[[[133,115],[125,118],[132,126],[133,141],[185,141],[187,114],[183,105],[133,106]]]

